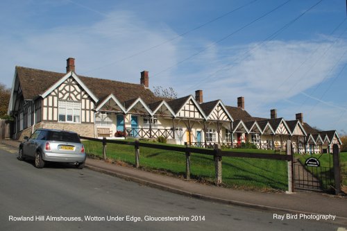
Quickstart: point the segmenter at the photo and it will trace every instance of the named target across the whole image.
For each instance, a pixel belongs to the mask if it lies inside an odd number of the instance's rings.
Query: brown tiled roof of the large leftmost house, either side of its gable
[[[34,99],[49,89],[49,87],[62,78],[62,76],[66,75],[66,73],[43,71],[27,67],[16,67],[16,71],[19,77],[19,83],[22,86],[24,99]],[[91,78],[79,76],[78,74],[77,76],[99,99],[105,99],[109,94],[113,94],[120,102],[138,97],[141,97],[145,103],[153,103],[161,100],[161,98],[156,97],[150,89],[146,89],[140,84]]]

